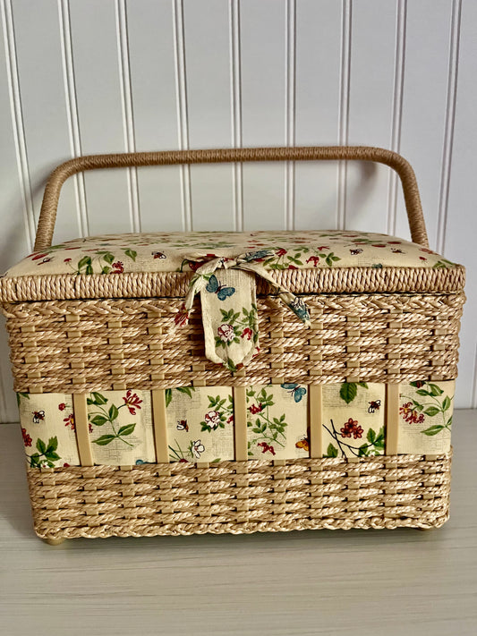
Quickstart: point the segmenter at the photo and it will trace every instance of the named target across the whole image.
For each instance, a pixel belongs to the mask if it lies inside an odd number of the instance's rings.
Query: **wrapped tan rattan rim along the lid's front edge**
[[[344,267],[273,272],[271,276],[292,293],[422,293],[464,289],[462,266]],[[17,276],[0,279],[0,301],[63,301],[94,298],[180,298],[187,293],[192,273],[92,274],[90,276]],[[263,280],[257,292],[273,293]]]

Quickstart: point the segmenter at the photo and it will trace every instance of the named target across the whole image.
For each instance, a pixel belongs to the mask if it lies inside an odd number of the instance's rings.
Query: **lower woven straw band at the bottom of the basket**
[[[29,470],[42,538],[439,527],[450,454]]]

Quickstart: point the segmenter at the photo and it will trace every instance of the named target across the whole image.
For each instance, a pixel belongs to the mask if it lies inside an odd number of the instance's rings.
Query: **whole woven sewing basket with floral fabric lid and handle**
[[[192,232],[52,246],[72,174],[330,159],[394,168],[413,242]],[[429,249],[413,169],[388,150],[192,150],[58,166],[34,253],[0,279],[38,536],[439,527],[463,290],[464,267]]]

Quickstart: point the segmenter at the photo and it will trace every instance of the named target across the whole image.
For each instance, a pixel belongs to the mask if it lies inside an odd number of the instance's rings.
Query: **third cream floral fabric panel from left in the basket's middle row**
[[[234,398],[230,386],[166,389],[171,462],[234,459]]]

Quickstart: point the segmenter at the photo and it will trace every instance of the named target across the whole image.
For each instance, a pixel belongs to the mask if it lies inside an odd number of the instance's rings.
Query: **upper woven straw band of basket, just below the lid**
[[[396,383],[456,377],[464,293],[305,296],[311,328],[260,298],[260,355],[232,377],[204,356],[200,303],[171,331],[181,299],[42,301],[6,308],[14,389],[81,393],[280,380]]]

